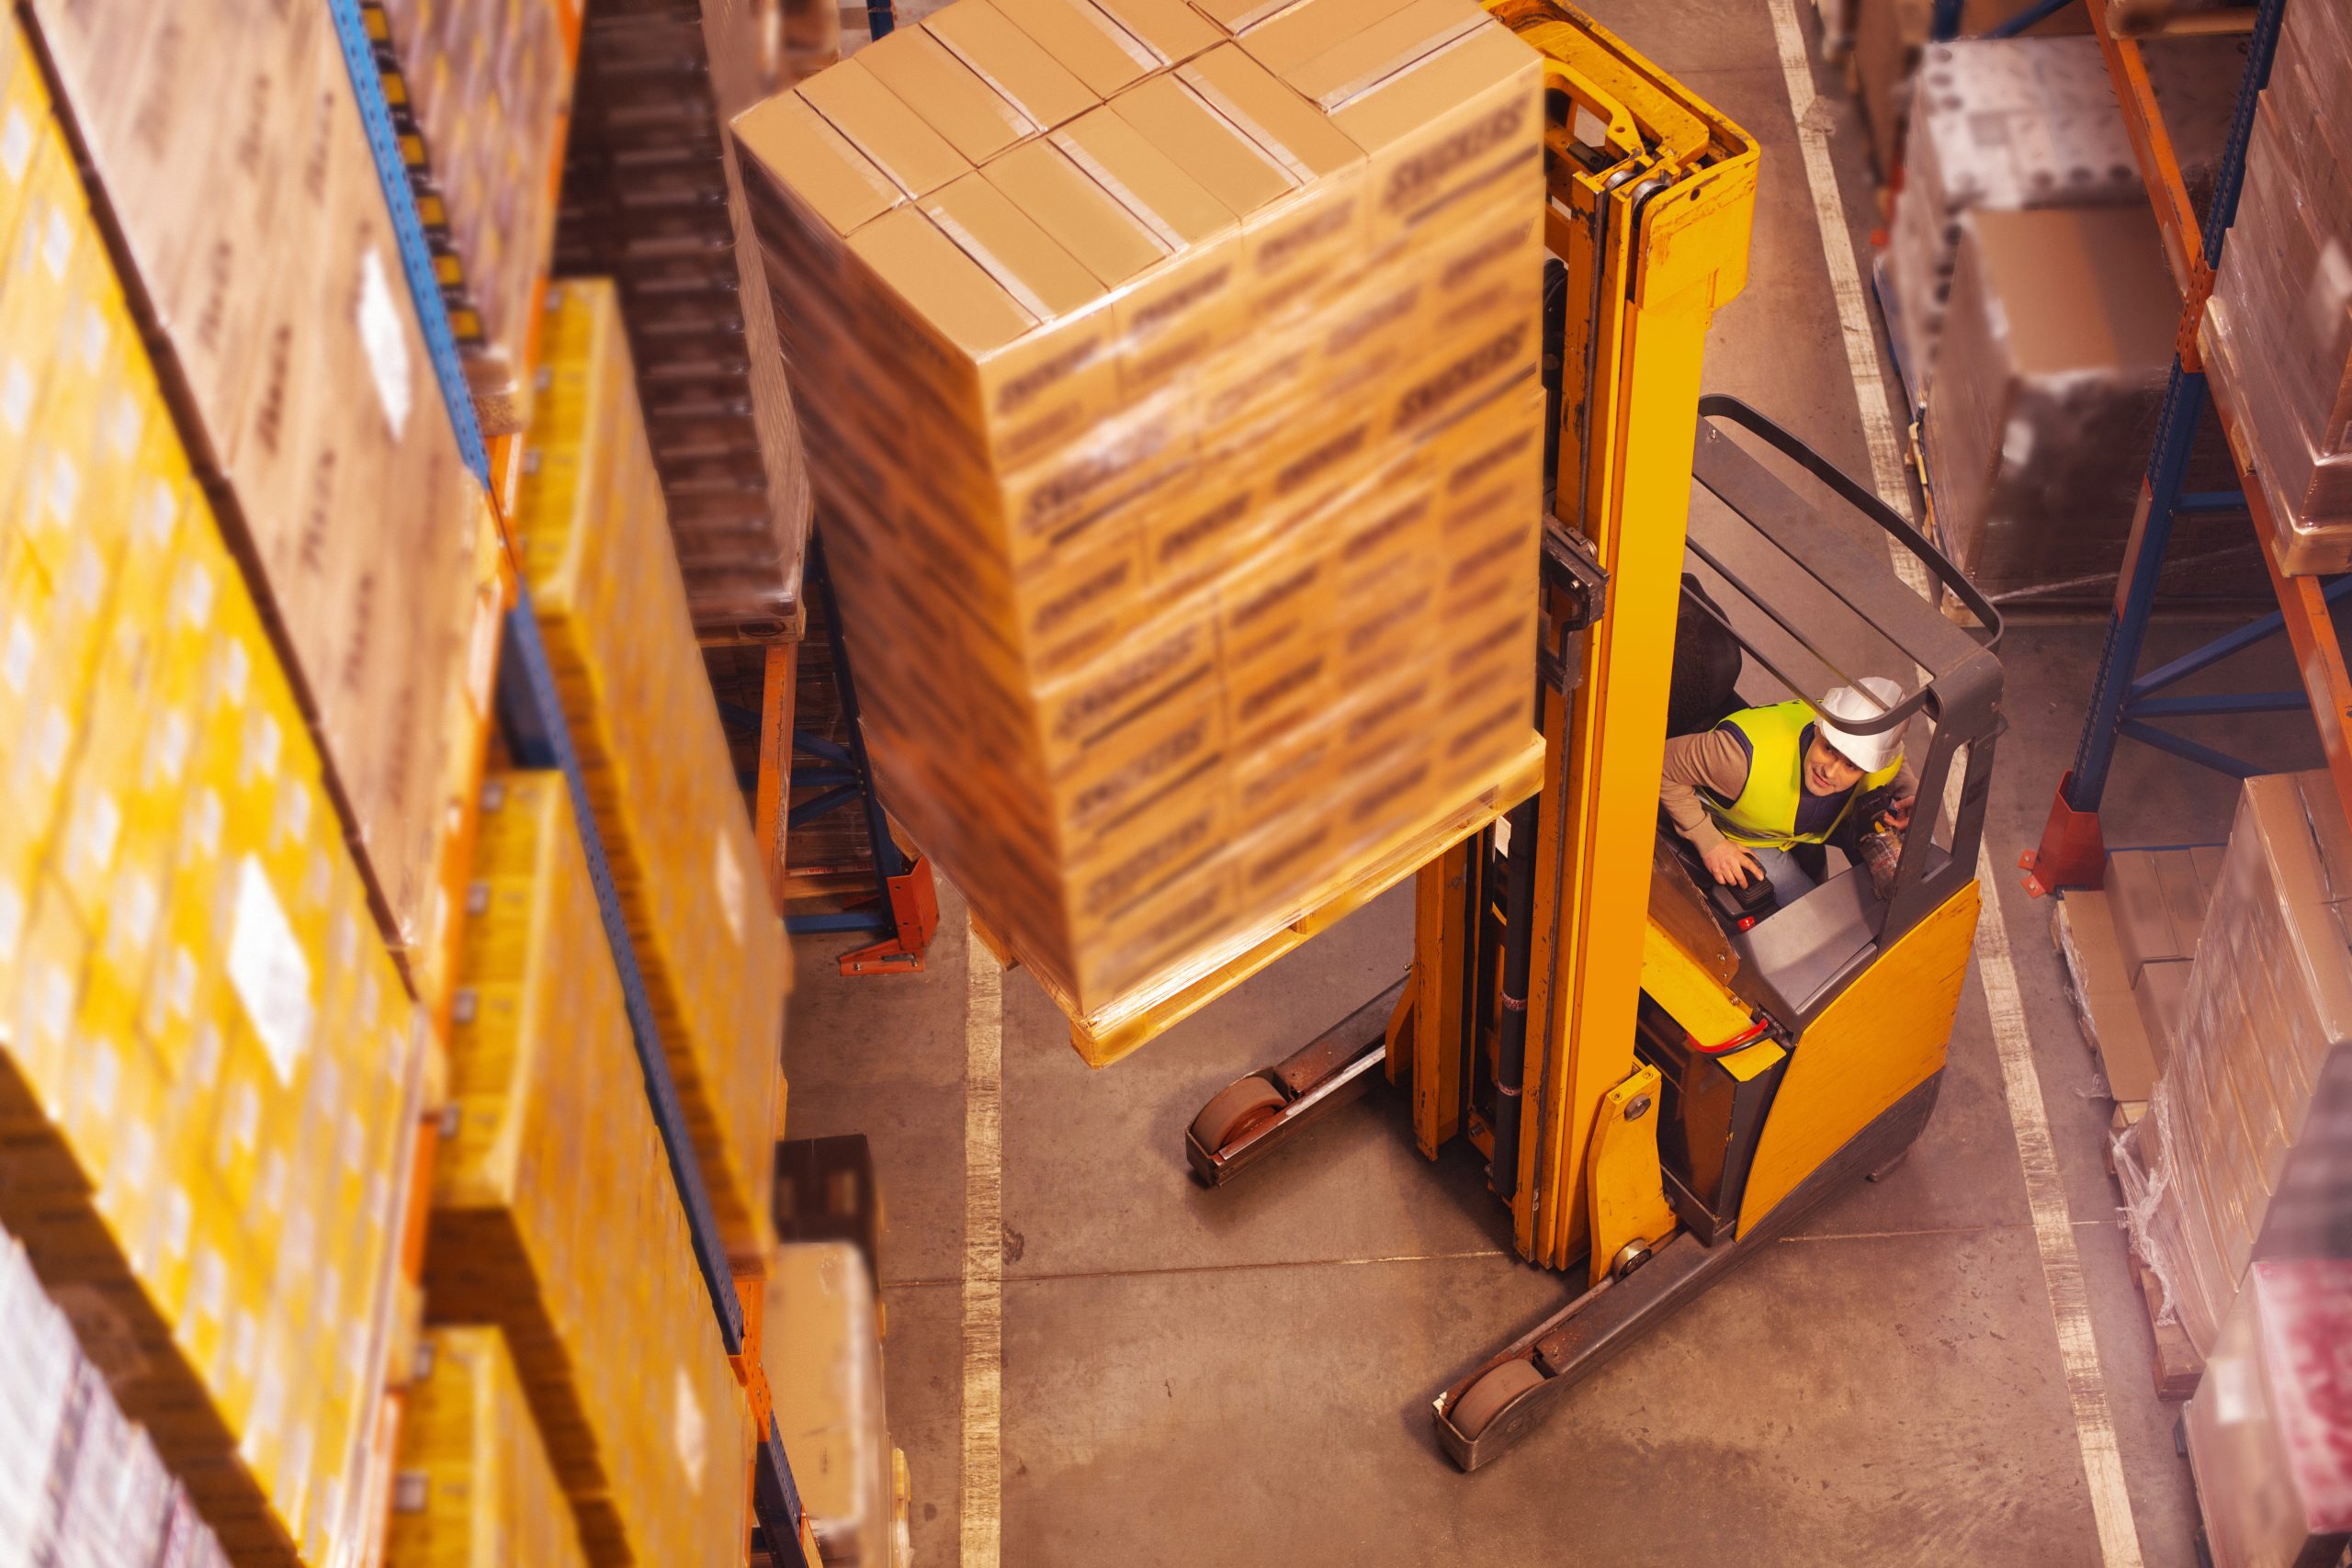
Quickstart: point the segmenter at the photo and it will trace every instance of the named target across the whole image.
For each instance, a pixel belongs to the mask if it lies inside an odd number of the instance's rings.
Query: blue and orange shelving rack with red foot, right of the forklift
[[[2246,176],[2246,143],[2253,134],[2253,106],[2270,80],[2270,59],[2277,52],[2284,9],[2286,0],[2263,0],[2253,12],[2220,14],[2232,19],[2232,24],[2251,19],[2251,49],[2246,80],[2237,96],[2237,115],[2230,122],[2230,139],[2223,146],[2220,169],[2213,181],[2213,197],[2204,221],[2199,221],[2180,179],[2180,160],[2173,153],[2171,134],[2157,108],[2157,94],[2147,80],[2140,45],[2133,38],[2117,35],[2107,26],[2105,7],[2091,5],[2091,26],[2098,33],[2131,146],[2147,181],[2157,226],[2164,233],[2164,252],[2171,261],[2173,280],[2180,284],[2183,310],[2171,381],[2164,390],[2164,407],[2157,421],[2157,442],[2147,458],[2147,477],[2140,482],[2140,503],[2131,520],[2129,543],[2124,545],[2124,571],[2107,616],[2107,635],[2100,646],[2098,675],[2091,684],[2089,715],[2082,738],[2074,745],[2074,764],[2058,780],[2039,846],[2025,851],[2018,863],[2027,872],[2025,886],[2037,896],[2063,886],[2100,884],[2107,849],[2098,825],[2098,806],[2107,788],[2117,741],[2129,736],[2131,741],[2154,745],[2234,778],[2258,771],[2227,752],[2161,729],[2159,719],[2310,710],[2319,726],[2319,745],[2336,780],[2336,795],[2343,799],[2345,813],[2352,816],[2352,672],[2345,668],[2331,616],[2336,602],[2345,592],[2352,592],[2352,576],[2326,581],[2279,571],[2270,501],[2244,458],[2241,442],[2230,440],[2230,451],[2244,496],[2183,491],[2190,444],[2209,409],[2220,418],[2223,433],[2234,437],[2225,402],[2216,402],[2213,397],[2209,378],[2216,367],[2204,362],[2197,346],[2197,329],[2204,320],[2206,299],[2213,292],[2213,268],[2220,266],[2223,242],[2230,235],[2230,223],[2237,219],[2237,197]],[[2253,517],[2253,536],[2279,609],[2143,675],[2140,649],[2154,611],[2157,576],[2164,569],[2173,517],[2216,503],[2244,505]],[[2180,679],[2209,670],[2281,630],[2293,646],[2296,668],[2303,675],[2300,691],[2161,696]]]

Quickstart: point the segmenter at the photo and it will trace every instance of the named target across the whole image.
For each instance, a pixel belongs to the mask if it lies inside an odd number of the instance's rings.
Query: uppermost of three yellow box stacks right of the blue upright
[[[783,924],[767,896],[644,447],[614,287],[548,292],[522,574],[729,1253],[769,1244]]]

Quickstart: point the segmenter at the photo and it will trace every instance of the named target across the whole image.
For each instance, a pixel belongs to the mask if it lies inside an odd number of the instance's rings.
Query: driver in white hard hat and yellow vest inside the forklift
[[[1823,879],[1823,844],[1856,858],[1867,823],[1849,820],[1853,802],[1882,785],[1893,795],[1882,820],[1910,825],[1919,780],[1903,762],[1900,726],[1879,736],[1837,726],[1875,719],[1903,689],[1865,675],[1863,691],[1839,686],[1818,712],[1802,701],[1743,708],[1715,729],[1665,743],[1658,802],[1717,882],[1748,886],[1764,877],[1783,905],[1795,903]]]

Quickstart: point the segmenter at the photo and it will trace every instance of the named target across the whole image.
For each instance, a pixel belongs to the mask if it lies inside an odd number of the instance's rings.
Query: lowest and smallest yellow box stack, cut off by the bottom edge
[[[583,1568],[546,1443],[496,1328],[433,1328],[409,1385],[390,1568]]]

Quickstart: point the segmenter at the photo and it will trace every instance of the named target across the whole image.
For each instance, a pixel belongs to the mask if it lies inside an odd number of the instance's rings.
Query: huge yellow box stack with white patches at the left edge
[[[388,1481],[423,1025],[26,49],[0,19],[0,1220],[221,1542],[327,1561]]]

